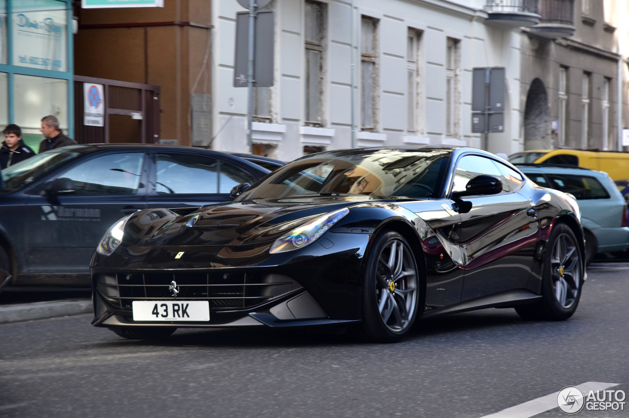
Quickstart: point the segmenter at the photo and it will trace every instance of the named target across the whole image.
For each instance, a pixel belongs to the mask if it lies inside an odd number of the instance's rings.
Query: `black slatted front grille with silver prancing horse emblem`
[[[170,289],[175,282],[177,297]],[[250,309],[301,289],[291,277],[279,274],[155,272],[101,274],[99,293],[123,310],[133,300],[209,300],[211,311]]]

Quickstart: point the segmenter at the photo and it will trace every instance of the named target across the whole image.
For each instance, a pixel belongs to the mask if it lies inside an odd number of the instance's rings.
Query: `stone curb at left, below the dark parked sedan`
[[[92,301],[89,299],[55,300],[52,302],[0,306],[0,324],[89,314],[93,312],[93,309]]]

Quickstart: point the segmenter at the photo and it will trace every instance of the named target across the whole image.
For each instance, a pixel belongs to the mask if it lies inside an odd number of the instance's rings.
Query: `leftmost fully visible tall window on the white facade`
[[[306,48],[306,92],[304,118],[306,124],[323,123],[321,97],[323,97],[323,34],[325,33],[325,4],[306,1],[304,46]]]

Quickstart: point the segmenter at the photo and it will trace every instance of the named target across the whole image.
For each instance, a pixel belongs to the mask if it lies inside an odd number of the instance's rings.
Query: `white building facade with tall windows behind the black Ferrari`
[[[523,149],[519,28],[484,0],[274,0],[272,87],[257,87],[253,151],[281,160],[338,148]],[[215,150],[247,151],[247,88],[233,87],[236,0],[213,2]],[[504,132],[472,133],[472,69],[505,67]]]

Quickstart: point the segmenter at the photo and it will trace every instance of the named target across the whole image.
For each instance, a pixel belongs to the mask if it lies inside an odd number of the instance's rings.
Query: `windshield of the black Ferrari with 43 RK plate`
[[[279,168],[238,201],[303,195],[438,197],[449,157],[445,150],[320,153]]]

